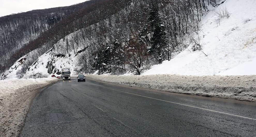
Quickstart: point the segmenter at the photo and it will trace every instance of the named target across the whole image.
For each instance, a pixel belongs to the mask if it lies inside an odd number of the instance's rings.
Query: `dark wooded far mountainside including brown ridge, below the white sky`
[[[3,57],[1,58],[3,62],[3,64],[0,65],[1,70],[3,71],[6,68],[9,68],[11,64],[30,51],[45,46],[40,50],[37,50],[40,56],[66,35],[97,23],[102,18],[111,16],[127,4],[126,0],[122,2],[116,1],[117,0],[92,0],[69,7],[35,10],[0,18],[0,20],[3,20],[3,23],[1,23],[3,26],[9,22],[14,23],[14,25],[19,25],[17,22],[25,22],[25,25],[21,25],[21,27],[25,26],[25,28],[18,29],[18,31],[14,31],[14,34],[11,35],[3,35],[3,40],[0,39],[0,42],[3,43],[0,44],[3,49],[3,52],[1,52],[3,53],[3,56],[1,56]],[[117,6],[114,7],[113,4],[117,4]],[[110,10],[103,10],[106,7],[112,8]],[[56,15],[54,12],[56,12]],[[49,18],[46,18],[45,16],[48,14],[50,14]],[[25,18],[22,18],[23,16]],[[36,16],[36,18],[39,16],[39,19],[33,19],[35,18],[34,16]],[[11,21],[9,21],[10,19]],[[48,23],[51,24],[51,27]],[[34,34],[34,28],[39,30],[38,33],[36,32],[37,34]],[[10,29],[7,28],[3,31],[7,32],[4,32],[4,34],[9,34],[9,32],[12,32],[13,30],[15,30],[15,27],[11,25]],[[19,38],[16,39],[16,37]],[[10,43],[10,41],[14,41],[14,43]],[[37,56],[37,58],[39,56]]]

